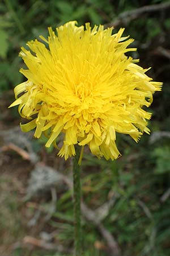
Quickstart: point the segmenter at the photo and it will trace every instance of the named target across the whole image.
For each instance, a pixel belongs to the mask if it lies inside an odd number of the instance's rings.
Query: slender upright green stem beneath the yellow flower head
[[[81,228],[81,183],[80,183],[80,146],[75,145],[76,155],[73,158],[73,200],[74,200],[74,247],[75,256],[82,255],[82,228]]]

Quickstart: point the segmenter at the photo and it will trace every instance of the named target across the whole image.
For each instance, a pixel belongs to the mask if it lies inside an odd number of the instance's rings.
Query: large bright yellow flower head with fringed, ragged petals
[[[149,133],[147,113],[152,94],[161,90],[161,82],[153,82],[147,69],[127,57],[133,39],[121,37],[124,28],[112,35],[113,28],[90,24],[76,26],[68,22],[49,28],[46,40],[30,41],[19,53],[28,69],[20,69],[27,81],[15,87],[16,100],[22,117],[32,119],[20,125],[23,131],[36,127],[35,137],[44,133],[45,146],[56,145],[64,134],[59,156],[75,155],[74,145],[88,145],[98,158],[116,159],[116,133],[129,134],[136,142]],[[20,95],[20,96],[19,96]],[[18,97],[19,96],[19,97]]]

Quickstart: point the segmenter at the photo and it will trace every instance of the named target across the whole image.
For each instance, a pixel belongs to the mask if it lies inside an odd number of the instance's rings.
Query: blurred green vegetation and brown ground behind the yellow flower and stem
[[[163,91],[152,104],[151,136],[118,136],[122,157],[83,159],[84,256],[170,255],[170,3],[159,0],[5,0],[0,3],[0,254],[73,255],[71,164],[23,135],[14,86],[24,80],[21,46],[69,20],[126,27],[124,35]],[[41,162],[41,163],[40,163]],[[51,167],[51,169],[49,169]],[[56,171],[54,171],[56,170]],[[55,176],[61,173],[62,177]],[[54,175],[54,176],[53,176]],[[58,178],[59,177],[59,178]],[[59,180],[59,181],[58,181]],[[55,181],[55,182],[54,182]],[[38,193],[39,191],[39,193]]]

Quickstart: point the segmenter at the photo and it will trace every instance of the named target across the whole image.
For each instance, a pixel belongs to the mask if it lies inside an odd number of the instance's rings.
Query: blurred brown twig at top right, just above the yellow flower
[[[118,27],[121,25],[126,25],[134,19],[138,19],[142,14],[154,13],[156,11],[162,11],[164,9],[169,9],[170,3],[159,3],[157,5],[146,5],[139,7],[134,10],[124,11],[118,15],[118,18],[113,20],[113,22],[105,24],[105,27]]]

